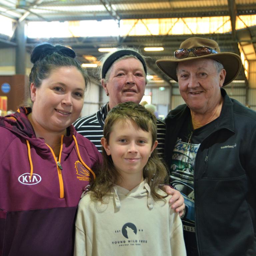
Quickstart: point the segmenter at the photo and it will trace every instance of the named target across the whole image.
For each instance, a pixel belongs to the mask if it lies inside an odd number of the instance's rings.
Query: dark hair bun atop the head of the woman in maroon
[[[40,45],[36,46],[33,49],[32,53],[31,53],[30,60],[34,64],[36,61],[41,60],[45,56],[51,55],[55,52],[59,53],[60,55],[65,55],[65,56],[68,56],[71,58],[76,57],[75,52],[68,47],[65,47],[63,45],[55,45],[54,46],[49,43],[44,43],[44,44],[40,44]]]

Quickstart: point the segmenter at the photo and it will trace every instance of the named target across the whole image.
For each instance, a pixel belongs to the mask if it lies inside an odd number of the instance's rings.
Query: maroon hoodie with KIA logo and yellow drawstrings
[[[77,205],[101,154],[70,126],[57,161],[30,112],[0,117],[0,255],[73,255]]]

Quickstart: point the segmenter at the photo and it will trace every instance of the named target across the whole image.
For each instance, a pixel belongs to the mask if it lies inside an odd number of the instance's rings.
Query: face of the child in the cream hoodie
[[[135,175],[143,181],[143,168],[148,158],[157,146],[157,141],[152,146],[151,132],[146,132],[127,120],[117,121],[110,133],[109,143],[102,138],[102,145],[107,155],[111,155],[115,168],[122,178]]]

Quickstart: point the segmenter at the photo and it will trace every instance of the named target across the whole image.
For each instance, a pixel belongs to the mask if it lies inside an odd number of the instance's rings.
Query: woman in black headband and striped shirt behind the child
[[[133,101],[140,103],[147,84],[147,66],[145,58],[132,48],[119,48],[106,54],[100,68],[101,84],[109,102],[105,103],[95,114],[78,119],[74,126],[78,133],[91,140],[101,152],[101,137],[108,112],[117,104]],[[158,150],[163,153],[165,123],[157,119]],[[173,195],[171,203],[176,212],[183,213],[184,199],[177,190],[170,189]]]

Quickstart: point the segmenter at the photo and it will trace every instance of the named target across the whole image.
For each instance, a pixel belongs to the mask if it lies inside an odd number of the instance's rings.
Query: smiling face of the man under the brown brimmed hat
[[[180,94],[191,111],[204,114],[220,101],[225,70],[218,72],[212,59],[180,62],[177,68]]]

